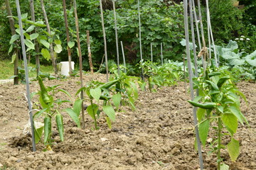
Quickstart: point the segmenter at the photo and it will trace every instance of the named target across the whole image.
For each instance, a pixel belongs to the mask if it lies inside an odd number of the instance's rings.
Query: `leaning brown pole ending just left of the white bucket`
[[[43,0],[40,0],[40,2],[41,2],[41,8],[42,8],[42,11],[43,11],[43,17],[46,21],[47,32],[48,32],[49,35],[51,35],[50,25],[49,25],[47,14],[46,14],[46,8],[43,4]],[[56,64],[56,60],[55,60],[54,53],[53,53],[53,42],[50,42],[50,59],[52,60],[55,76],[57,76],[58,69],[57,69],[57,64]]]

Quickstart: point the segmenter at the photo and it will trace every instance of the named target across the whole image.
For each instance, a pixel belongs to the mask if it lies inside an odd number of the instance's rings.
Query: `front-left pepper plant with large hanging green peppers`
[[[61,100],[60,98],[55,98],[55,94],[58,92],[63,92],[68,97],[71,98],[68,91],[63,89],[57,89],[60,85],[55,86],[44,86],[41,77],[38,77],[38,83],[40,85],[40,91],[34,93],[31,96],[39,95],[39,103],[41,105],[41,111],[36,112],[33,115],[33,120],[43,117],[44,126],[41,128],[35,128],[35,138],[36,143],[41,140],[41,136],[44,132],[43,143],[46,145],[46,150],[51,150],[51,145],[53,145],[52,136],[52,121],[55,119],[58,132],[60,135],[60,140],[64,140],[64,128],[63,128],[63,115],[60,113],[60,105],[62,103],[70,102],[69,100]]]

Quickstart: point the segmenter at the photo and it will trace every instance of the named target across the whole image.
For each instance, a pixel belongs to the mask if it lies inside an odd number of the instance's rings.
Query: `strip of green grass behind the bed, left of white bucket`
[[[1,60],[0,62],[0,79],[10,79],[14,75],[14,64],[10,64],[11,60]],[[23,63],[19,62],[19,67],[23,68]],[[28,64],[28,67],[36,68],[36,64]],[[40,71],[43,73],[53,73],[52,66],[40,66]],[[36,70],[30,71],[29,77],[36,77]]]

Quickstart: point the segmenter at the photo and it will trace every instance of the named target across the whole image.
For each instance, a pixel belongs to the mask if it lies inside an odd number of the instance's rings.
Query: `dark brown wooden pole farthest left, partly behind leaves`
[[[7,11],[8,16],[12,16],[9,0],[5,0],[5,4],[6,4],[6,11]],[[15,35],[16,31],[15,31],[15,27],[14,27],[14,18],[9,17],[9,23],[10,23],[10,28],[11,28],[11,35]],[[18,52],[17,47],[15,49],[15,53],[16,53],[16,58],[14,61],[14,76],[17,76],[17,77],[14,77],[14,84],[18,84],[18,55],[19,55],[19,52]]]

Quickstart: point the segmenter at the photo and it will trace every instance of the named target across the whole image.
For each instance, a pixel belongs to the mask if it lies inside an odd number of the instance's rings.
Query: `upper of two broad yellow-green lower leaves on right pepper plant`
[[[233,114],[223,114],[221,117],[225,127],[227,128],[228,132],[233,136],[236,130],[238,129],[238,118],[235,117]]]

